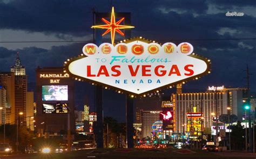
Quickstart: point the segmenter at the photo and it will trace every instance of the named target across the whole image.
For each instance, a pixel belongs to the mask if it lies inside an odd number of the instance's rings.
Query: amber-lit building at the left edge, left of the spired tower
[[[0,86],[6,91],[6,95],[2,101],[2,116],[5,116],[5,124],[14,124],[15,122],[15,76],[14,73],[1,72]],[[3,97],[3,96],[2,96]]]

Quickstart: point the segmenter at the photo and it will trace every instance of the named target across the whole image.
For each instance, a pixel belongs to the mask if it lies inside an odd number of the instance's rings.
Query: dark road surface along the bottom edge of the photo
[[[154,158],[256,158],[255,154],[244,153],[241,151],[229,152],[218,152],[212,153],[207,151],[191,151],[181,150],[176,151],[173,149],[94,149],[94,150],[78,150],[69,153],[50,153],[50,154],[15,154],[15,155],[0,155],[0,159],[5,158],[100,158],[100,159],[127,159],[127,158],[138,158],[138,159],[154,159]]]

